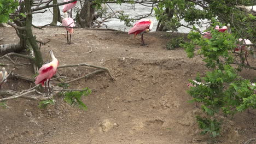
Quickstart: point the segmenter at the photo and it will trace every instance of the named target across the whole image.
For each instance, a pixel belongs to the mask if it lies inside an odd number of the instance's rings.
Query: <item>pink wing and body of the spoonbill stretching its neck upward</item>
[[[37,77],[35,77],[36,81],[34,83],[36,83],[36,85],[38,85],[39,83],[42,84],[42,86],[44,86],[44,82],[47,79],[50,79],[51,77],[53,77],[53,65],[50,64],[44,64],[38,71],[39,75]]]

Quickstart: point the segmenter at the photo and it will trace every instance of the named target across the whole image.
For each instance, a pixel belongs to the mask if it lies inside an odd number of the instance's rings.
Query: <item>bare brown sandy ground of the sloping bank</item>
[[[18,42],[13,28],[0,27],[0,32],[0,38],[4,37],[0,44]],[[86,111],[69,106],[62,97],[56,97],[56,104],[46,109],[39,109],[38,101],[7,101],[7,109],[0,109],[0,143],[244,143],[256,137],[255,110],[251,110],[254,114],[225,118],[223,136],[216,140],[199,135],[195,116],[201,110],[188,103],[187,83],[207,69],[200,58],[187,58],[183,49],[164,48],[168,40],[185,34],[150,32],[144,34],[147,45],[141,46],[140,37],[133,39],[117,31],[75,29],[71,45],[66,44],[63,28],[33,32],[38,40],[51,40],[40,49],[45,62],[49,61],[48,51],[53,50],[60,65],[106,67],[117,81],[101,73],[71,83],[71,88],[92,90],[83,97]],[[11,64],[5,59],[0,62]],[[32,77],[29,67],[18,67],[15,73]],[[5,68],[10,71],[13,67]],[[72,80],[94,70],[78,67],[59,69],[58,73]],[[256,76],[250,70],[242,75]],[[21,91],[33,85],[8,79],[2,89]]]

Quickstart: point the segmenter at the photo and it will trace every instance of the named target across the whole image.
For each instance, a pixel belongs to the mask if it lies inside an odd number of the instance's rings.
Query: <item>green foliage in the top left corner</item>
[[[14,0],[0,0],[0,23],[9,20],[9,14],[14,13],[19,2]]]

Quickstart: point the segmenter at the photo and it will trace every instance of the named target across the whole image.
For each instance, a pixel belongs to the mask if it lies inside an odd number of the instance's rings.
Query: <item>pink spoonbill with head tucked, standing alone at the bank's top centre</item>
[[[148,33],[153,28],[153,22],[149,19],[141,19],[135,23],[135,25],[130,29],[128,34],[134,34],[134,38],[136,38],[137,34],[141,34],[141,42],[142,45],[145,45],[143,40],[143,34]]]

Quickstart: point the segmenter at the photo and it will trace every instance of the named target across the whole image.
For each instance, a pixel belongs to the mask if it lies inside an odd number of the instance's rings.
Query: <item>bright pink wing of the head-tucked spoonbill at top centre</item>
[[[135,25],[130,29],[128,34],[133,34],[133,33],[141,33],[145,31],[146,29],[149,29],[150,26],[150,21],[149,20],[139,20],[135,23]]]

